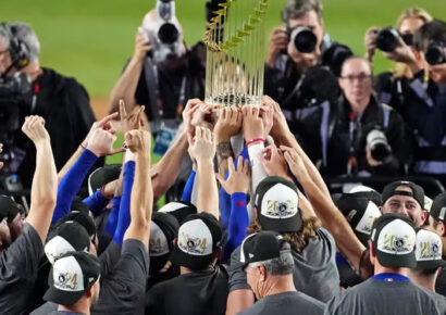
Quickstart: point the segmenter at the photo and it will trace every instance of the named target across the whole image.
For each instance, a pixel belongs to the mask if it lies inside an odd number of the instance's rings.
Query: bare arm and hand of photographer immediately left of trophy
[[[151,49],[151,46],[147,43],[147,40],[138,32],[135,38],[135,52],[128,62],[124,73],[121,75],[116,85],[110,92],[109,112],[115,112],[119,110],[119,100],[125,101],[126,110],[131,112],[135,105],[135,92],[138,86],[139,76],[143,72],[144,60],[147,52]]]

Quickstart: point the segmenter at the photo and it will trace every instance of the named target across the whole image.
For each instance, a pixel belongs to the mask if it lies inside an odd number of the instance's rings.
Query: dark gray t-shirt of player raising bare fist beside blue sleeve
[[[91,307],[91,313],[144,314],[148,275],[149,253],[146,247],[135,239],[125,240],[114,268],[103,278],[101,275],[99,300]]]

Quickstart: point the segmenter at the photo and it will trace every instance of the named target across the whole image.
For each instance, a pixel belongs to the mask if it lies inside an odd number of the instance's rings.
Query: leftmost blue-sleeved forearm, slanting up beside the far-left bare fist
[[[98,161],[98,156],[88,149],[85,149],[76,163],[73,164],[62,178],[58,187],[58,203],[54,209],[51,224],[57,223],[70,212],[74,197],[79,190],[88,171],[95,165],[96,161]]]

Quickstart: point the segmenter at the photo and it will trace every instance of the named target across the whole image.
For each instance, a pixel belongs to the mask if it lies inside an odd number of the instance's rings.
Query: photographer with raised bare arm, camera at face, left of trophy
[[[135,52],[110,93],[109,112],[124,99],[127,112],[146,106],[151,130],[176,130],[186,101],[205,96],[206,49],[188,50],[174,1],[157,1],[135,38]],[[165,129],[164,129],[165,130]]]

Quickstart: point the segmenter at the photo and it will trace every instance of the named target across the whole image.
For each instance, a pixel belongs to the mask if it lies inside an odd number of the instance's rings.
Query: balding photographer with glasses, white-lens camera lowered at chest
[[[308,133],[320,135],[320,139],[313,136],[308,152],[324,175],[395,176],[410,161],[405,123],[373,97],[372,77],[367,60],[347,59],[338,79],[343,96],[322,106],[315,119],[302,122]]]

